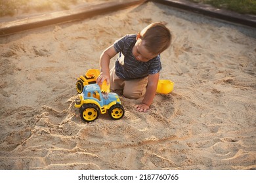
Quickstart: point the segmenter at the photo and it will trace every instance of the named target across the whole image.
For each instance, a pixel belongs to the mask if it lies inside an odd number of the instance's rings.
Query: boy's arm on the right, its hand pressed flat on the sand
[[[150,108],[154,97],[156,95],[156,88],[158,87],[159,73],[154,75],[148,75],[148,86],[146,87],[146,93],[141,104],[135,105],[137,111],[146,112]]]

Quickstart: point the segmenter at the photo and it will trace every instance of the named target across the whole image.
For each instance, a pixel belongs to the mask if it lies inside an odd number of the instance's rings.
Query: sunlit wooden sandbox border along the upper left
[[[32,18],[24,18],[12,22],[3,22],[0,24],[0,36],[9,35],[19,31],[42,27],[45,25],[58,24],[61,22],[70,22],[74,20],[82,20],[91,18],[98,14],[114,12],[123,8],[128,8],[134,5],[140,5],[146,0],[127,0],[127,1],[112,1],[110,3],[102,3],[99,5],[91,5],[89,7],[75,8],[72,10],[64,10],[51,14],[43,14]]]

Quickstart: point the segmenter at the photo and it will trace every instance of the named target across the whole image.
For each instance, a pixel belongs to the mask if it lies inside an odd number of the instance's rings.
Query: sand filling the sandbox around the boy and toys
[[[152,22],[173,33],[151,109],[84,123],[76,78]],[[255,29],[154,3],[0,37],[0,169],[256,169]],[[111,65],[114,64],[114,59]]]

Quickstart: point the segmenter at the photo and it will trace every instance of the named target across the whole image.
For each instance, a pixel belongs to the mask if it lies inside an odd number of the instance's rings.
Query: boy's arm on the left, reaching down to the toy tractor
[[[112,44],[100,55],[100,75],[96,80],[98,84],[102,84],[104,80],[110,84],[110,59],[116,56],[116,54],[117,52],[114,48],[114,45]]]

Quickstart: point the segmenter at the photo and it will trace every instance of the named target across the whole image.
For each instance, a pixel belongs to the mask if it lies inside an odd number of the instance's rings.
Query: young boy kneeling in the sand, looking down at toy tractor
[[[108,47],[100,56],[100,75],[110,90],[121,90],[129,99],[139,99],[137,111],[146,112],[154,100],[161,70],[160,53],[171,44],[171,33],[165,25],[153,23],[137,35],[125,35]],[[115,66],[110,70],[110,59],[119,53]]]

